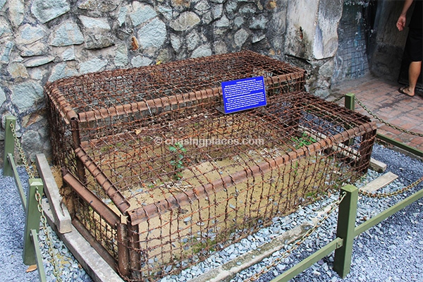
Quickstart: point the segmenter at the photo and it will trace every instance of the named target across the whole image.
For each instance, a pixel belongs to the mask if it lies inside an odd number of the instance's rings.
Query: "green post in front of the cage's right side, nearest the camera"
[[[343,239],[343,245],[335,250],[333,270],[339,276],[345,278],[350,273],[351,257],[353,255],[358,189],[353,185],[345,185],[341,188],[341,192],[345,192],[346,195],[339,204],[336,237]]]

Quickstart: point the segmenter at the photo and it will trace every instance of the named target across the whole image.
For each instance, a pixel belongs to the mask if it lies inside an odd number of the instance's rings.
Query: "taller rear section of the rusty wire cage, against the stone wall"
[[[302,69],[252,51],[89,73],[51,82],[44,94],[54,128],[54,161],[76,173],[73,150],[80,140],[92,137],[78,132],[80,123],[97,127],[97,135],[113,135],[119,132],[116,127],[121,123],[139,121],[137,115],[154,115],[158,108],[167,111],[195,104],[197,99],[219,97],[222,81],[255,76],[264,76],[266,85],[278,92],[302,90],[305,82]],[[111,124],[114,127],[107,126]]]

